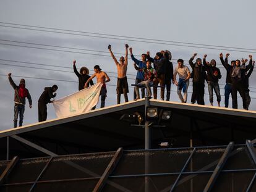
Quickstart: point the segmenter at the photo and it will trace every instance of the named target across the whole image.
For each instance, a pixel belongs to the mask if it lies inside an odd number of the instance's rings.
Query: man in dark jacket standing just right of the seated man
[[[161,86],[161,100],[164,100],[164,85],[165,85],[165,70],[166,62],[169,60],[168,52],[164,52],[164,55],[161,52],[156,52],[155,58],[150,57],[150,52],[147,51],[147,59],[150,62],[153,62],[154,69],[157,73],[157,78],[154,82],[153,95],[154,99],[157,98],[157,86],[160,83]]]

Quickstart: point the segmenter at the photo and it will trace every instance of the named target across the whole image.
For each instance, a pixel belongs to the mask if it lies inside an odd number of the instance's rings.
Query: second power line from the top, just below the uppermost
[[[239,50],[234,50],[234,49],[218,49],[218,48],[208,48],[208,47],[201,47],[201,46],[189,46],[189,45],[183,45],[183,44],[171,44],[171,43],[160,43],[160,42],[153,42],[153,41],[129,40],[129,39],[122,39],[122,38],[106,37],[106,36],[83,35],[83,34],[66,33],[66,32],[59,32],[59,31],[38,30],[38,29],[23,28],[23,27],[11,27],[11,26],[6,26],[6,25],[0,25],[0,27],[19,28],[19,29],[25,29],[25,30],[44,31],[44,32],[50,32],[50,33],[61,33],[61,34],[67,34],[67,35],[89,36],[89,37],[93,37],[93,38],[105,38],[105,39],[111,39],[111,40],[134,41],[134,42],[140,42],[140,43],[165,44],[165,45],[181,46],[181,47],[187,47],[187,48],[214,49],[214,50],[219,50],[219,51],[222,50],[222,51],[256,53],[254,51],[239,51]],[[250,50],[252,50],[252,49],[250,49]]]

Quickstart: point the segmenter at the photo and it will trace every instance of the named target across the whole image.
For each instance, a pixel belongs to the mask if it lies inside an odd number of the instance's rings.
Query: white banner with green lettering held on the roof
[[[96,106],[102,83],[97,83],[53,102],[58,118],[87,112]]]

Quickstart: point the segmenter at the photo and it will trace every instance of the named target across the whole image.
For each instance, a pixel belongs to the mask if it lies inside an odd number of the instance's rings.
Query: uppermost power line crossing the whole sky
[[[135,36],[111,35],[111,34],[106,34],[106,33],[93,33],[93,32],[88,32],[88,31],[66,30],[66,29],[61,29],[61,28],[41,27],[41,26],[35,26],[35,25],[22,25],[22,24],[7,23],[7,22],[0,22],[0,23],[8,24],[8,25],[23,26],[23,27],[45,28],[45,29],[49,29],[49,30],[70,31],[70,32],[76,32],[76,33],[87,33],[87,34],[92,34],[92,35],[104,35],[104,36],[116,36],[116,37],[120,37],[120,38],[132,38],[132,39],[135,39],[135,40],[149,40],[149,41],[160,41],[160,42],[180,43],[180,44],[194,44],[194,45],[199,45],[199,46],[211,46],[211,47],[217,47],[217,48],[231,48],[231,49],[242,49],[242,50],[256,51],[256,49],[237,48],[237,47],[231,47],[231,46],[218,46],[218,45],[213,45],[213,44],[199,44],[199,43],[189,43],[189,42],[181,42],[181,41],[157,40],[157,39],[151,39],[151,38],[139,38],[139,37],[135,37]],[[6,27],[6,26],[4,25],[2,27]],[[9,27],[9,26],[7,26],[7,27]]]

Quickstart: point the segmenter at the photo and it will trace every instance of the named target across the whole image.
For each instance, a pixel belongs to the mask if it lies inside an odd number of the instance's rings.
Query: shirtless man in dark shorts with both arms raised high
[[[124,94],[124,100],[128,102],[127,93],[128,90],[128,82],[126,77],[127,72],[127,64],[128,64],[128,44],[126,44],[126,56],[120,57],[119,62],[117,61],[116,57],[114,56],[111,45],[109,44],[108,50],[110,52],[111,57],[114,59],[117,67],[117,85],[116,85],[116,93],[117,93],[117,104],[120,104],[121,94]]]

